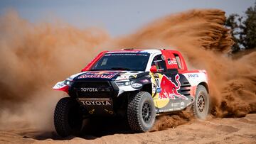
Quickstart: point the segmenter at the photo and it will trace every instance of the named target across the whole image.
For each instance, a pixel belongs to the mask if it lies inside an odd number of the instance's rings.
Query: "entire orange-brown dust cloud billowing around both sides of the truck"
[[[111,38],[99,28],[81,30],[66,23],[29,23],[15,12],[0,17],[0,125],[26,121],[53,128],[61,92],[51,87],[79,72],[106,48],[166,48],[183,53],[188,67],[208,71],[214,117],[240,117],[256,111],[256,52],[232,60],[233,40],[223,26],[225,12],[199,9],[160,18],[135,33]],[[106,50],[105,49],[105,50]],[[162,116],[154,131],[178,126],[191,116]]]

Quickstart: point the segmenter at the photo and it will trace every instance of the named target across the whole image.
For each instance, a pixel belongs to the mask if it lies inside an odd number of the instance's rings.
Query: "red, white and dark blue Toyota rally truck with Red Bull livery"
[[[203,119],[209,109],[206,70],[187,70],[176,50],[103,51],[53,89],[69,95],[55,106],[62,137],[79,133],[85,118],[124,116],[132,131],[146,132],[161,114],[189,107]]]

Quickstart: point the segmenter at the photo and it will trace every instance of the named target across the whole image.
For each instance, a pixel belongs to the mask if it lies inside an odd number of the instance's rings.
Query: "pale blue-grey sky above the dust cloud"
[[[1,0],[32,23],[58,19],[78,28],[100,27],[112,36],[132,33],[146,23],[190,9],[222,9],[242,15],[255,0]]]

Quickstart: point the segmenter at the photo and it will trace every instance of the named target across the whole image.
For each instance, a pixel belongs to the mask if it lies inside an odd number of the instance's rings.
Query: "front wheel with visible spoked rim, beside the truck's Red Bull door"
[[[148,92],[139,92],[129,97],[127,118],[130,128],[137,132],[149,131],[154,126],[156,110]]]

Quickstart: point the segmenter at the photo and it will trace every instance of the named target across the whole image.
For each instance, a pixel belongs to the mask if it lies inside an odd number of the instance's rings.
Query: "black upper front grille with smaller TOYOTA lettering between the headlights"
[[[84,90],[82,90],[82,89]],[[92,89],[97,89],[94,91]],[[90,91],[90,90],[91,91]],[[70,92],[76,97],[112,97],[114,95],[114,90],[110,82],[90,82],[90,81],[77,81],[73,83]]]

